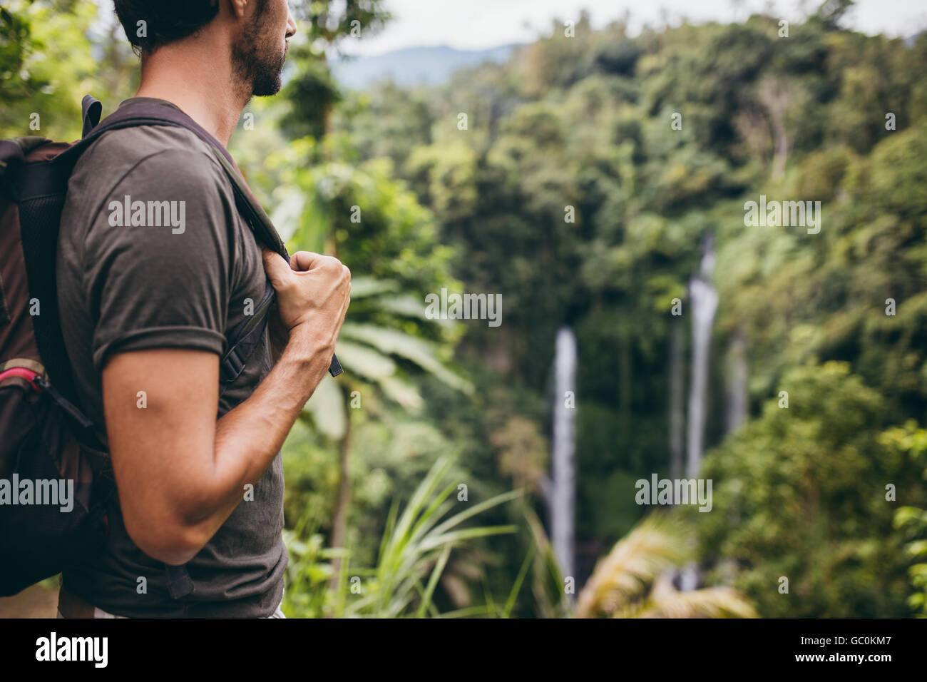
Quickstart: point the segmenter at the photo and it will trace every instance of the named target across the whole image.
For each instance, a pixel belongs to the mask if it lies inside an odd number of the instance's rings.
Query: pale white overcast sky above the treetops
[[[485,49],[496,45],[528,43],[549,33],[552,19],[575,19],[589,9],[592,26],[599,28],[630,12],[631,32],[643,24],[662,25],[661,8],[669,23],[686,17],[705,20],[743,20],[750,9],[771,6],[771,14],[798,20],[819,6],[819,0],[387,0],[393,20],[379,35],[348,39],[349,54],[375,55],[402,47],[450,45],[459,49]],[[908,36],[927,29],[927,0],[857,0],[847,14],[850,28],[867,33]]]

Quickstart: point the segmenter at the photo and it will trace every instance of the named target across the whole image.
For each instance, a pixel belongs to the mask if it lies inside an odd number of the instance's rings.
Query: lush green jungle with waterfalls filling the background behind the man
[[[291,3],[229,150],[352,288],[284,447],[287,617],[927,616],[927,35],[851,6],[565,12],[350,90],[389,0]],[[110,10],[0,8],[0,138],[133,96]]]

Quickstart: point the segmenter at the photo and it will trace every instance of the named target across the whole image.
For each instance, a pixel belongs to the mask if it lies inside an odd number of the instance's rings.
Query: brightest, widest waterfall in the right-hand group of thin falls
[[[708,401],[708,351],[717,309],[717,291],[711,283],[715,249],[711,236],[702,244],[702,263],[689,282],[692,310],[692,385],[689,390],[689,423],[686,475],[698,476],[705,448],[705,418]]]

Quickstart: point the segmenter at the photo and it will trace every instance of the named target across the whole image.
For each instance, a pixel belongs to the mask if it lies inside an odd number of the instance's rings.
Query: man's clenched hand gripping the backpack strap
[[[277,317],[272,320],[274,345],[284,338],[308,341],[335,353],[338,332],[348,313],[350,270],[337,258],[297,251],[289,264],[278,253],[265,250],[264,269],[277,292]],[[274,327],[276,327],[274,329]]]

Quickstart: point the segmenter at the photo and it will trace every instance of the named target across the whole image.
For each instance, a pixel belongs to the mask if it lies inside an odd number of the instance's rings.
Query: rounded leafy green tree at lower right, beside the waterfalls
[[[924,494],[880,438],[882,398],[836,362],[796,367],[778,388],[787,408],[769,400],[705,459],[714,509],[689,516],[705,555],[725,560],[716,575],[734,562],[734,585],[765,617],[908,615],[908,560],[886,485],[899,499]]]

